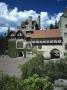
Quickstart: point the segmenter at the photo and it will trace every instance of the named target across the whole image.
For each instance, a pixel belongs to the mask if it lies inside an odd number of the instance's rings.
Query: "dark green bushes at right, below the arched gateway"
[[[56,62],[50,61],[44,66],[44,75],[48,76],[51,81],[62,78],[67,79],[67,64],[64,60]]]

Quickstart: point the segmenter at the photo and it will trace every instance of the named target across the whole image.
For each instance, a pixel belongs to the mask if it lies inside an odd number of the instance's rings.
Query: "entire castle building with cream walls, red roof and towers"
[[[32,21],[29,16],[18,31],[11,31],[8,40],[8,54],[11,57],[30,57],[33,51],[45,58],[62,58],[67,52],[67,9],[60,18],[59,29],[40,30],[40,16]]]

